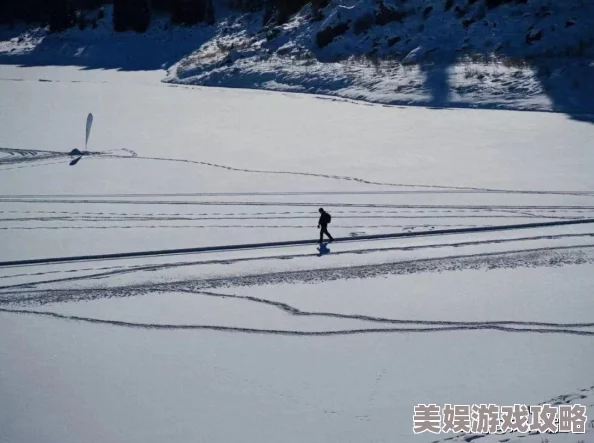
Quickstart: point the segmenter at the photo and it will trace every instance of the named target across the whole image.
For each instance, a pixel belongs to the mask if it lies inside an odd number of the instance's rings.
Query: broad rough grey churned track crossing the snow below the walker
[[[309,254],[308,254],[309,255]],[[231,261],[231,260],[230,260]],[[461,269],[491,270],[520,267],[557,267],[594,263],[594,244],[543,247],[507,252],[460,254],[455,256],[401,260],[372,265],[317,268],[298,271],[277,271],[252,275],[228,275],[207,279],[185,279],[177,282],[140,283],[128,286],[85,289],[29,289],[41,284],[102,279],[117,275],[115,271],[90,276],[78,276],[41,282],[3,286],[2,304],[47,304],[66,301],[94,300],[111,297],[132,297],[155,292],[211,291],[217,288],[252,287],[278,284],[310,284],[336,280],[368,279],[385,275],[410,275],[424,272],[459,271]],[[158,265],[157,265],[158,266]],[[14,289],[24,290],[14,291]]]

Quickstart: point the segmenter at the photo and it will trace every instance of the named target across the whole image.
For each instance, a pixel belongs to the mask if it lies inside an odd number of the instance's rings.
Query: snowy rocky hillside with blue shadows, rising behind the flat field
[[[320,6],[320,5],[319,5]],[[584,0],[359,0],[305,5],[277,24],[218,4],[217,24],[114,33],[0,32],[0,62],[168,69],[175,84],[384,104],[594,114],[594,5]]]

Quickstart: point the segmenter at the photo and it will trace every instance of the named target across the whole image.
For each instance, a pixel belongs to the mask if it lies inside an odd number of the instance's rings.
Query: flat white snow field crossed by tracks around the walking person
[[[454,437],[413,434],[418,403],[594,418],[594,225],[431,234],[594,219],[591,123],[164,75],[0,66],[0,262],[214,247],[0,266],[0,442]],[[320,206],[330,254],[274,245],[315,240]]]

